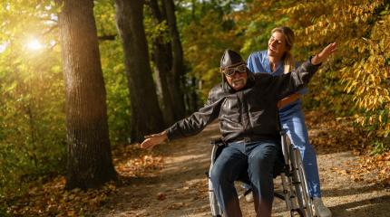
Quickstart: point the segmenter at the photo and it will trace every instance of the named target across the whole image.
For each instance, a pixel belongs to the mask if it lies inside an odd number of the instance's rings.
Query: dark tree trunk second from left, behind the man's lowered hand
[[[132,105],[131,137],[141,141],[145,135],[159,132],[163,128],[143,28],[143,1],[115,0],[115,9]]]

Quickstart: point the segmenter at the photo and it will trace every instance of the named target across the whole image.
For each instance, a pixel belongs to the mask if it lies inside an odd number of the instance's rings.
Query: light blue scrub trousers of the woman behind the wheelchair
[[[283,128],[287,130],[291,143],[300,150],[305,166],[310,196],[321,197],[316,151],[309,143],[305,117],[302,110],[299,109],[287,118],[281,118],[281,121]]]

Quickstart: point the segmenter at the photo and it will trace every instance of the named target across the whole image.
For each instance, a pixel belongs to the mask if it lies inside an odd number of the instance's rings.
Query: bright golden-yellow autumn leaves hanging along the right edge
[[[313,22],[297,30],[300,46],[316,46],[327,42],[338,42],[339,52],[329,61],[336,85],[342,91],[337,96],[343,100],[342,109],[354,108],[351,115],[356,122],[368,127],[369,133],[387,137],[390,133],[389,72],[390,29],[389,5],[385,1],[327,1],[307,5],[291,6],[281,10],[292,17],[309,18],[317,8],[326,8]],[[292,19],[298,24],[298,19]],[[330,94],[324,97],[329,99]],[[342,101],[338,101],[341,103]]]

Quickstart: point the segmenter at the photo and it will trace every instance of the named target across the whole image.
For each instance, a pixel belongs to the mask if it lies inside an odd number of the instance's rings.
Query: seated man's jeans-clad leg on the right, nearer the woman
[[[278,157],[278,145],[276,142],[248,145],[247,153],[257,216],[271,216],[274,193],[273,171]]]

